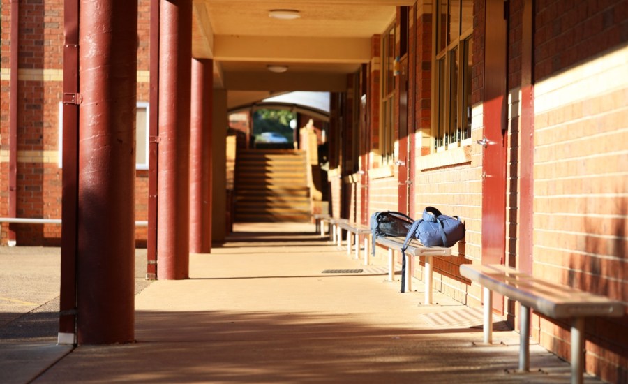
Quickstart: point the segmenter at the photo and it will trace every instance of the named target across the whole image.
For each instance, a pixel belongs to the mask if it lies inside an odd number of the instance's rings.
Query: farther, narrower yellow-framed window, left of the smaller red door
[[[395,24],[393,23],[382,35],[382,124],[380,129],[382,163],[393,161],[395,152],[395,57]]]

